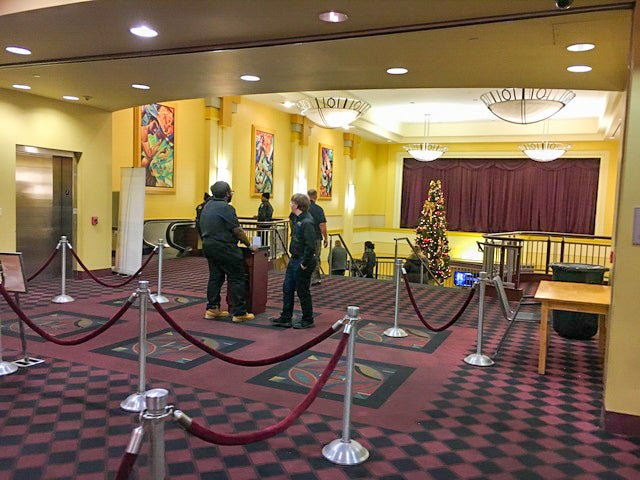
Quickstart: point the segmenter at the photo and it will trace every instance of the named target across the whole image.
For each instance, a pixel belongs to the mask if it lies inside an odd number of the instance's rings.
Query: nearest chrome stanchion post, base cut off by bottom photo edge
[[[148,425],[146,429],[150,438],[149,465],[151,478],[164,480],[166,475],[164,422],[173,415],[173,407],[167,406],[169,392],[164,388],[154,388],[146,393],[147,409],[142,420]]]

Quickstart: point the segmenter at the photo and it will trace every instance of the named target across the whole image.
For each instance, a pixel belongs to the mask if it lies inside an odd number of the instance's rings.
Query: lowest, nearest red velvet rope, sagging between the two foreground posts
[[[327,380],[331,376],[331,373],[336,368],[338,360],[342,356],[342,352],[344,352],[344,348],[347,344],[348,339],[349,334],[343,333],[338,348],[331,357],[331,360],[329,360],[329,363],[323,370],[322,374],[320,374],[320,377],[318,377],[318,381],[316,382],[316,384],[309,391],[309,393],[307,393],[302,402],[300,402],[300,404],[296,408],[294,408],[287,417],[283,418],[275,425],[267,427],[263,430],[259,430],[257,432],[230,434],[216,433],[196,422],[191,422],[191,425],[186,427],[187,431],[192,435],[198,437],[199,439],[204,440],[205,442],[213,443],[216,445],[246,445],[248,443],[266,440],[267,438],[271,438],[275,435],[278,435],[279,433],[284,432],[316,399],[318,393],[320,393],[320,390],[322,390],[322,387],[324,387],[324,385],[327,383]],[[351,401],[351,399],[345,399],[345,401]]]

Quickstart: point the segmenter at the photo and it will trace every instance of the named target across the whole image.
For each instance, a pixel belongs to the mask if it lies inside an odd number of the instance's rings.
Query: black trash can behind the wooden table
[[[553,280],[558,282],[602,285],[609,269],[584,263],[552,263]],[[598,315],[592,313],[553,311],[553,329],[564,338],[588,340],[598,333]]]

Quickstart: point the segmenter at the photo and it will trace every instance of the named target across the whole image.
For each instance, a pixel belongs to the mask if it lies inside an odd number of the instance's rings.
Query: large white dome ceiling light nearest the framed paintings
[[[316,125],[324,128],[341,128],[354,122],[371,108],[367,102],[357,98],[316,97],[303,98],[296,102],[300,113]]]

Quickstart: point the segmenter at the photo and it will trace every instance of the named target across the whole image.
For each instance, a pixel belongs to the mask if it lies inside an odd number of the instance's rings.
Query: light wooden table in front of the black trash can
[[[549,311],[595,313],[598,315],[600,349],[604,352],[606,341],[606,316],[611,302],[611,287],[590,283],[551,282],[543,280],[534,296],[542,305],[540,312],[540,351],[538,373],[544,374],[549,342]]]

